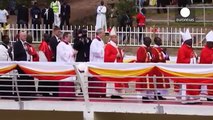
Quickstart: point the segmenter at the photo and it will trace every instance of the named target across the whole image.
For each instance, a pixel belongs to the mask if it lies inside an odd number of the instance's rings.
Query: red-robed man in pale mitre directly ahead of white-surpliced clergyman
[[[110,31],[110,41],[107,43],[104,49],[104,62],[123,62],[124,53],[117,46],[117,34],[115,27]],[[127,84],[122,83],[107,83],[107,87],[110,87],[108,93],[111,95],[111,98],[122,98],[119,93],[122,92],[122,88],[127,87]],[[115,89],[111,89],[114,88]]]

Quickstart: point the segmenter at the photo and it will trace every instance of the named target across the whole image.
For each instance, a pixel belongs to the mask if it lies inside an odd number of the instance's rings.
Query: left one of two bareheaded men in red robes
[[[152,61],[152,47],[150,46],[152,40],[150,37],[145,37],[143,39],[143,45],[140,46],[137,50],[137,63],[151,63]],[[154,85],[153,83],[153,79],[148,78],[149,75],[151,75],[152,73],[149,73],[145,78],[140,78],[140,80],[138,82],[141,83],[137,83],[136,84],[136,90],[137,91],[146,91],[146,95],[142,97],[142,100],[144,100],[144,102],[146,102],[146,100],[149,100],[152,98],[152,96],[150,96],[150,94],[153,94],[153,90],[149,90],[150,88],[153,89]]]

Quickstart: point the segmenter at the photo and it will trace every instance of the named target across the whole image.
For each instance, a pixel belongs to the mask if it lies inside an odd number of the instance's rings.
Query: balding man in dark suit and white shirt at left
[[[26,31],[19,32],[19,39],[14,43],[13,52],[14,52],[14,60],[15,61],[30,61],[30,55],[28,54],[27,46],[26,46],[27,33]],[[18,73],[20,74],[18,77],[18,87],[20,96],[32,96],[33,91],[35,91],[33,78],[30,76],[23,75],[25,74],[19,67],[17,68]],[[31,86],[31,87],[28,87]],[[26,93],[23,91],[30,91],[30,93]],[[22,98],[23,99],[23,98]]]

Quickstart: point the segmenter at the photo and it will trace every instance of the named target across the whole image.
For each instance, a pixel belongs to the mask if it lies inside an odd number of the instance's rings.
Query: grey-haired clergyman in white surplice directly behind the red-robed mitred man
[[[90,62],[101,62],[101,63],[104,62],[104,42],[102,40],[103,36],[104,30],[101,28],[98,29],[96,31],[96,38],[92,40],[92,43],[90,45]],[[106,96],[106,83],[103,83],[100,79],[96,77],[90,77],[88,81],[89,81],[88,91],[90,97]]]

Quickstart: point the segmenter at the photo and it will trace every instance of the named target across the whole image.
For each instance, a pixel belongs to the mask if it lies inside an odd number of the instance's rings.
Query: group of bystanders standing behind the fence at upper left
[[[52,26],[63,27],[64,25],[70,25],[70,5],[67,4],[66,0],[62,2],[53,0],[50,5],[45,3],[41,9],[37,2],[33,3],[33,6],[28,9],[25,4],[17,6],[17,24],[18,28],[29,27],[31,18],[31,24],[33,28],[39,29],[43,23],[46,29],[52,29]],[[7,24],[9,13],[6,9],[0,10],[0,24],[4,26]]]

